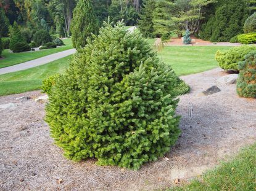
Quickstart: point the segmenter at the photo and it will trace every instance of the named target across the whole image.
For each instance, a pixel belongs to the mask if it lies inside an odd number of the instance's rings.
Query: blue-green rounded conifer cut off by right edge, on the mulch
[[[245,59],[239,63],[237,94],[244,98],[256,98],[256,51],[250,52]]]

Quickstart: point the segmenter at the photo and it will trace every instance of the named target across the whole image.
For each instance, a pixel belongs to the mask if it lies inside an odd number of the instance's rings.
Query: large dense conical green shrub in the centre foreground
[[[65,157],[138,169],[170,150],[180,79],[139,33],[104,23],[49,94],[46,122]]]

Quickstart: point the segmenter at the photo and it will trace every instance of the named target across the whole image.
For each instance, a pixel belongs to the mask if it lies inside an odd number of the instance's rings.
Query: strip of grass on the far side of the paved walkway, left
[[[51,55],[52,53],[73,49],[71,39],[64,39],[64,44],[65,46],[58,47],[56,49],[46,49],[35,52],[10,53],[10,50],[4,50],[2,52],[2,57],[4,57],[4,59],[0,60],[0,68],[34,60],[36,58],[41,58],[47,55]]]

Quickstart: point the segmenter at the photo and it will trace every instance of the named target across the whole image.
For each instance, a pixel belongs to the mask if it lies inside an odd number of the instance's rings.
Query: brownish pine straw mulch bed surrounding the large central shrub
[[[155,190],[170,186],[176,178],[186,181],[202,174],[256,141],[255,99],[239,98],[236,85],[198,96],[221,75],[221,69],[213,69],[183,77],[192,88],[180,97],[177,109],[183,133],[170,153],[139,171],[96,166],[95,160],[66,160],[49,136],[44,103],[15,100],[36,97],[38,91],[0,97],[0,104],[17,104],[0,110],[0,190]]]

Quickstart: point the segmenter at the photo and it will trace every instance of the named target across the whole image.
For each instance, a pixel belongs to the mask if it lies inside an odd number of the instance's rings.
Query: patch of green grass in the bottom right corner
[[[173,187],[168,191],[256,190],[256,144],[241,151],[231,162],[204,174],[202,180],[188,185]]]

